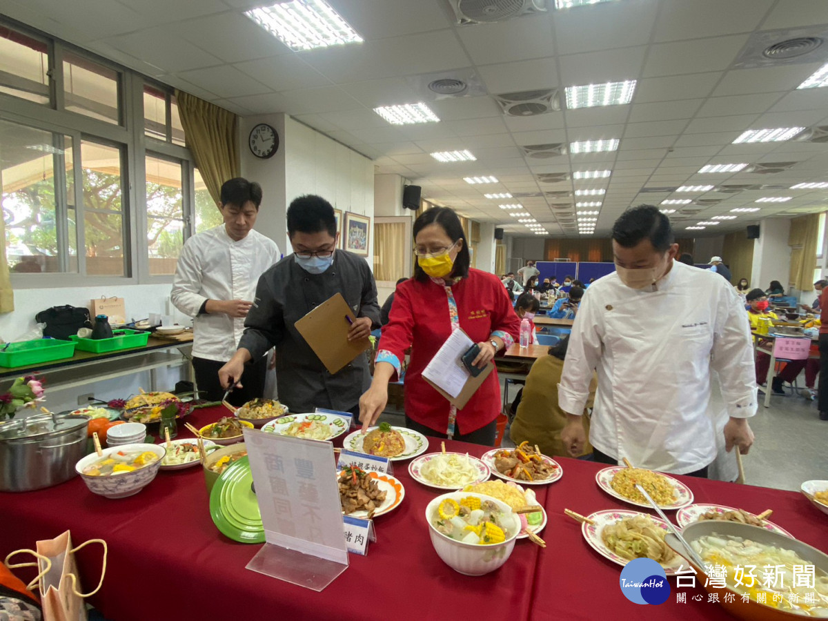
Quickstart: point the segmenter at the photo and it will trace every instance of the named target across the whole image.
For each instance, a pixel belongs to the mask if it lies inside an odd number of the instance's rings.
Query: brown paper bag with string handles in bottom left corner
[[[75,563],[75,552],[90,543],[103,545],[103,567],[98,587],[90,593],[80,590],[80,576]],[[90,539],[79,546],[72,547],[70,532],[49,541],[37,542],[37,553],[51,561],[40,580],[41,606],[45,621],[86,621],[86,604],[84,598],[94,595],[103,585],[106,574],[107,545],[103,539]],[[46,568],[44,561],[38,560],[41,571]]]

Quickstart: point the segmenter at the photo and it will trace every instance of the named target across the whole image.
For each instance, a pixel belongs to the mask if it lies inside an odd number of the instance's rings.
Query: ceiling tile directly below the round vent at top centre
[[[544,15],[460,27],[457,34],[476,65],[494,65],[555,54],[551,24]]]

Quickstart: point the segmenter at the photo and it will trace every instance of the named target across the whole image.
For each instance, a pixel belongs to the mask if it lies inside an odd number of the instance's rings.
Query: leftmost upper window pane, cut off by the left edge
[[[50,103],[49,48],[45,41],[0,26],[0,93]]]

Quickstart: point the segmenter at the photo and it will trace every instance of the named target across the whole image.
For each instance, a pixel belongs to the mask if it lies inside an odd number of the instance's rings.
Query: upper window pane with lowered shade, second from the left
[[[107,123],[121,123],[120,75],[84,56],[63,56],[64,107]]]

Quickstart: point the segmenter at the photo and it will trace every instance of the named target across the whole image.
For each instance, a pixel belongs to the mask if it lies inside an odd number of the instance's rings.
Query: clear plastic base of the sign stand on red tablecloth
[[[318,556],[266,543],[253,556],[247,568],[319,592],[348,569],[348,563],[327,561]]]

